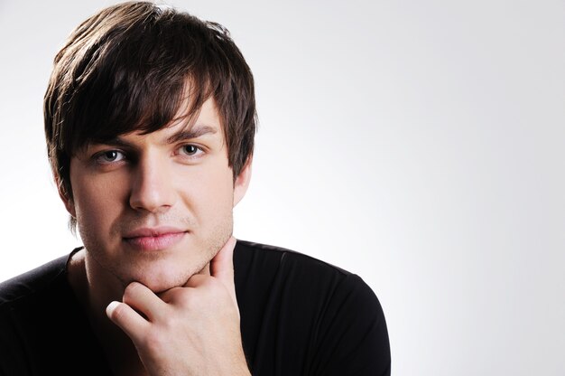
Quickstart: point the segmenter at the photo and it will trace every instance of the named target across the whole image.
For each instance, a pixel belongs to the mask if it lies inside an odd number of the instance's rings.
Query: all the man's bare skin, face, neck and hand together
[[[234,287],[234,180],[218,109],[90,145],[61,194],[85,248],[69,281],[116,374],[246,375]]]

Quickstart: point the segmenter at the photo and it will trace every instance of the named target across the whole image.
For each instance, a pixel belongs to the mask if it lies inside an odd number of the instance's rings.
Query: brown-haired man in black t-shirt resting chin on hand
[[[390,374],[360,277],[232,236],[255,93],[221,25],[101,10],[57,54],[44,115],[84,247],[0,286],[0,374]]]

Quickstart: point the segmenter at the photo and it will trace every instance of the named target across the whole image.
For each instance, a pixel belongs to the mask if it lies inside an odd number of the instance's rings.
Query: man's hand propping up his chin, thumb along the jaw
[[[239,331],[232,237],[184,287],[155,295],[132,282],[107,316],[133,341],[145,370],[163,375],[249,375]]]

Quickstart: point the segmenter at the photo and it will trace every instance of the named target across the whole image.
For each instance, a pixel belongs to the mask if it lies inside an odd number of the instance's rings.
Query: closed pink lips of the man
[[[136,250],[164,250],[180,242],[186,234],[186,230],[173,227],[143,228],[128,231],[123,240]]]

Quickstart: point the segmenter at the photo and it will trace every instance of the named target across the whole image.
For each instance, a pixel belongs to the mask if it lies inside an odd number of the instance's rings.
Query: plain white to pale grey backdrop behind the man
[[[0,280],[79,245],[42,96],[110,1],[0,0]],[[565,374],[563,1],[174,0],[224,24],[260,128],[236,237],[359,274],[393,374]]]

